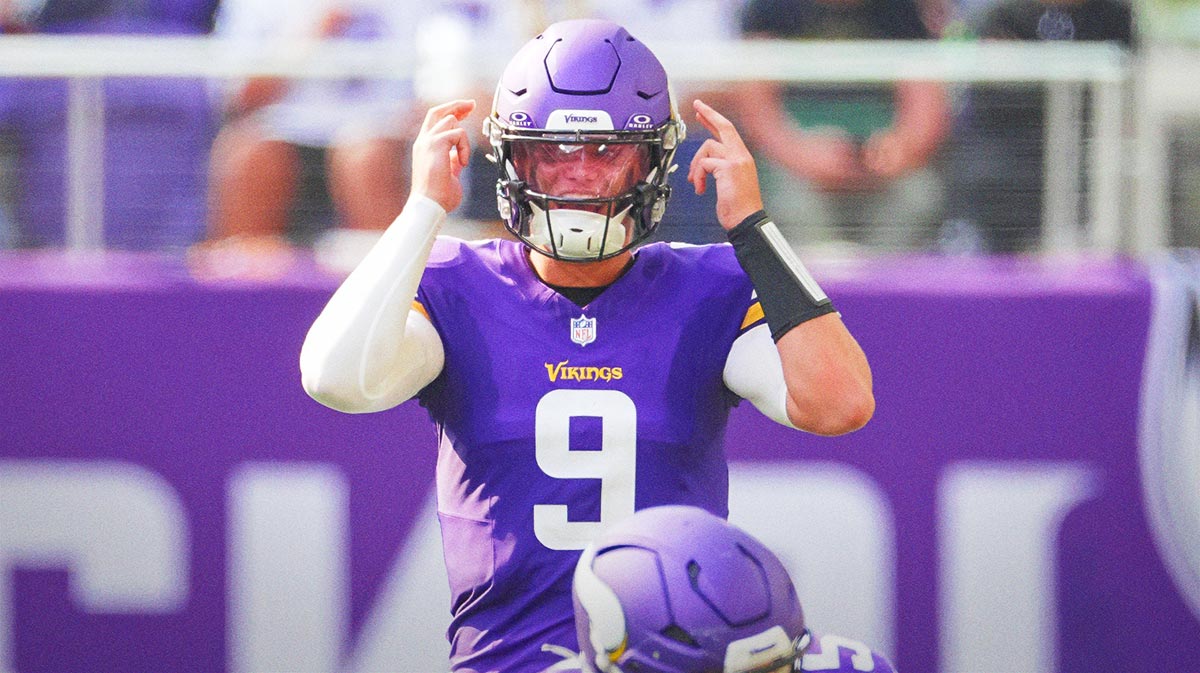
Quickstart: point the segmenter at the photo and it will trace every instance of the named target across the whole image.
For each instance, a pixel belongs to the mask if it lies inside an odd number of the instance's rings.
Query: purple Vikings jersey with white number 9
[[[571,573],[601,525],[665,504],[727,513],[722,371],[761,323],[728,245],[644,246],[587,307],[511,241],[439,239],[418,305],[445,348],[438,423],[455,671],[541,671],[577,650]]]

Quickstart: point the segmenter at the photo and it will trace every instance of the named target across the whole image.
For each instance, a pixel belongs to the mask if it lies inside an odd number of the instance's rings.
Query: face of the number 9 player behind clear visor
[[[554,197],[610,198],[649,173],[644,145],[521,143],[514,148],[517,173],[535,192]]]

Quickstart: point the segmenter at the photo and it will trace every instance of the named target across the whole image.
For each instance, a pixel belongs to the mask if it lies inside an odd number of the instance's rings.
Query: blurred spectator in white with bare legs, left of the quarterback
[[[306,40],[412,44],[422,7],[394,0],[223,0],[216,34],[235,41],[247,59],[276,44],[302,48]],[[366,232],[370,241],[396,217],[407,197],[407,137],[416,121],[409,82],[252,77],[227,84],[224,125],[212,148],[212,244],[200,251],[216,253],[208,263],[288,254],[331,228]]]

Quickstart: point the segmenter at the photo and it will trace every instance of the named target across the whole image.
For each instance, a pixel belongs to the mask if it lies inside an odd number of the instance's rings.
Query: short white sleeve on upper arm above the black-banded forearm
[[[787,381],[769,326],[758,325],[733,342],[722,378],[726,387],[749,399],[764,416],[796,427],[787,417]]]

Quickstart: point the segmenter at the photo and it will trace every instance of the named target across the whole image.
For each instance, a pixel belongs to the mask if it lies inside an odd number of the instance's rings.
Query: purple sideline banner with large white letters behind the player
[[[1200,510],[1171,467],[1194,463],[1139,453],[1144,375],[1178,357],[1147,367],[1151,275],[859,264],[814,270],[871,360],[871,423],[743,405],[728,432],[732,518],[810,624],[902,672],[1200,671],[1200,541],[1170,525]],[[445,669],[427,416],[299,384],[335,286],[0,257],[0,672]]]

